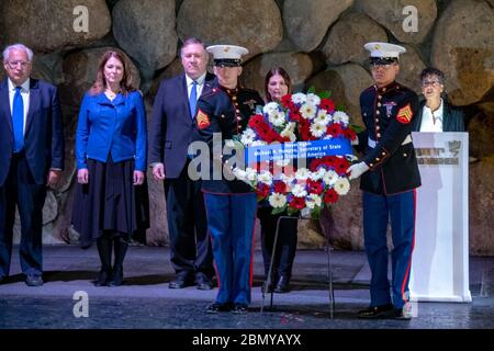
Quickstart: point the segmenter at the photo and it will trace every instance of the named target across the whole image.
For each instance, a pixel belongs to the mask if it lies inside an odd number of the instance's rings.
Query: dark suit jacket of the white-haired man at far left
[[[50,168],[64,169],[64,125],[56,87],[31,78],[24,151],[36,184],[45,184]],[[9,174],[13,149],[12,114],[7,78],[0,82],[0,186]]]

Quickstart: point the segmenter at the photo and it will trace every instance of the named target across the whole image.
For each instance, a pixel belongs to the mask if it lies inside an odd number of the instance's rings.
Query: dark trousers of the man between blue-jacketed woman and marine
[[[203,273],[212,278],[213,251],[201,182],[190,180],[187,168],[179,178],[165,180],[171,265],[177,275]]]

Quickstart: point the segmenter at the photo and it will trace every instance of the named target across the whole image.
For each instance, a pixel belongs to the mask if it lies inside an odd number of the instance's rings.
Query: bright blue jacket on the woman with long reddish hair
[[[146,111],[143,97],[132,91],[110,101],[104,93],[86,93],[76,133],[77,169],[88,168],[87,159],[114,162],[135,158],[135,169],[146,170]]]

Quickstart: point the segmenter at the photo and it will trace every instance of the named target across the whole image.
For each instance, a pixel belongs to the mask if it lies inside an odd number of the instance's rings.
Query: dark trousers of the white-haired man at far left
[[[8,276],[12,254],[15,206],[21,217],[21,269],[41,275],[43,205],[46,185],[36,184],[23,152],[12,156],[9,176],[0,186],[0,276]]]

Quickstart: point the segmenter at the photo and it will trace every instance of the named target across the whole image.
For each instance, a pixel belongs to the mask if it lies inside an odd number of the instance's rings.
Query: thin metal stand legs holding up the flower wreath
[[[265,309],[265,303],[266,303],[266,290],[268,286],[271,285],[271,273],[272,273],[272,267],[274,264],[274,254],[276,254],[276,250],[277,250],[277,244],[278,244],[278,233],[280,229],[280,222],[281,219],[290,219],[290,220],[299,220],[299,219],[303,219],[303,220],[312,220],[312,218],[307,218],[307,217],[303,217],[303,216],[280,216],[278,218],[277,222],[277,230],[274,233],[274,241],[272,245],[272,252],[271,252],[271,261],[269,262],[269,271],[268,271],[268,278],[266,280],[266,284],[262,286],[261,291],[262,291],[262,304],[261,304],[261,309],[260,312],[262,313]],[[332,254],[330,254],[332,248],[329,247],[329,238],[326,237],[326,252],[327,252],[327,281],[328,281],[328,295],[329,295],[329,317],[330,319],[333,319],[333,312],[335,309],[335,292],[333,290],[333,268],[332,268]],[[273,305],[273,295],[274,295],[274,290],[271,290],[271,302],[269,305],[269,308],[272,308]]]

